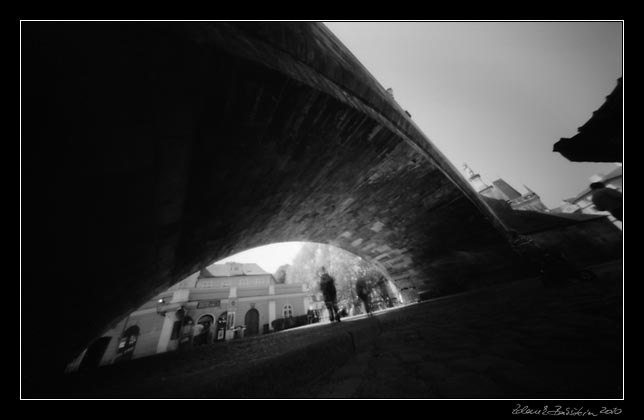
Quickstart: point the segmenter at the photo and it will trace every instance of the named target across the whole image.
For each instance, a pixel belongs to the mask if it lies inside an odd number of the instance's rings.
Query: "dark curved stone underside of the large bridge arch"
[[[23,22],[22,60],[27,381],[255,246],[342,247],[408,298],[516,268],[485,205],[322,25]]]

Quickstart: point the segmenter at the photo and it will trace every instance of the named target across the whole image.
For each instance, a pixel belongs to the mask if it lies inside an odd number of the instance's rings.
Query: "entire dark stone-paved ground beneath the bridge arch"
[[[48,398],[622,398],[621,265],[522,280],[45,386]]]

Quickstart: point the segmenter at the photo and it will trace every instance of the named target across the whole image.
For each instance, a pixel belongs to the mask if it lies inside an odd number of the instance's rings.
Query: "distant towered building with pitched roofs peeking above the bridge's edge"
[[[541,202],[539,195],[528,187],[525,187],[528,193],[521,194],[503,179],[497,179],[492,182],[492,185],[488,185],[467,164],[463,165],[463,169],[470,185],[482,196],[496,200],[504,200],[514,210],[548,211],[545,204]]]

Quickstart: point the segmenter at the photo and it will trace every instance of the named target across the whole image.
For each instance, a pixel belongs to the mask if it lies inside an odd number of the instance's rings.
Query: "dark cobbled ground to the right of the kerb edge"
[[[622,398],[621,282],[526,281],[382,314],[368,349],[297,397]]]

